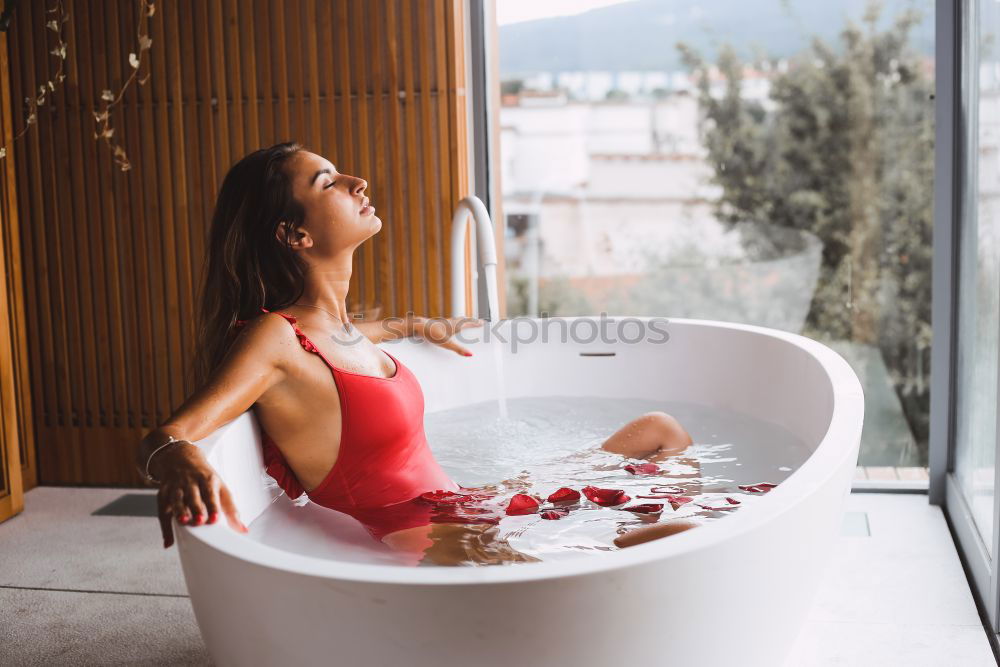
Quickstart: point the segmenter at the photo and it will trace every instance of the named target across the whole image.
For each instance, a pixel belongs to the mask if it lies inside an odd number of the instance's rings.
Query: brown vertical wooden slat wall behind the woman
[[[11,24],[14,100],[58,67],[43,5]],[[141,483],[138,439],[194,389],[215,194],[255,148],[296,140],[368,180],[384,226],[355,258],[352,305],[446,314],[447,227],[469,190],[462,0],[157,2],[150,79],[112,113],[129,172],[92,111],[131,73],[138,3],[66,5],[67,78],[15,161],[41,483]]]

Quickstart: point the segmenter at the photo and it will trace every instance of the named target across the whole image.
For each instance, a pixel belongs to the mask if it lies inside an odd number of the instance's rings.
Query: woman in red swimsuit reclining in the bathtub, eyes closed
[[[173,543],[171,517],[201,525],[223,512],[233,529],[247,531],[229,490],[192,442],[253,407],[268,472],[290,496],[306,493],[352,514],[376,539],[425,562],[461,562],[470,556],[457,553],[456,545],[477,540],[480,560],[533,560],[502,544],[485,556],[483,545],[499,544],[496,521],[435,514],[415,500],[462,487],[427,447],[416,378],[376,343],[416,335],[468,356],[454,334],[481,322],[351,323],[353,253],[382,227],[367,187],[296,143],[254,151],[226,174],[201,293],[200,389],[143,438],[137,456],[140,469],[160,485],[164,547]],[[602,447],[658,460],[689,444],[675,419],[651,412]],[[693,525],[658,523],[615,543],[631,546]]]

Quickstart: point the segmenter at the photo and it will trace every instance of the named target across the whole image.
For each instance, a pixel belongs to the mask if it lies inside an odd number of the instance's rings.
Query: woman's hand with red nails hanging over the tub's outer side
[[[229,489],[198,447],[190,442],[171,445],[156,454],[154,461],[155,475],[162,480],[156,500],[164,549],[174,543],[171,517],[200,526],[215,523],[221,510],[233,530],[247,532]]]

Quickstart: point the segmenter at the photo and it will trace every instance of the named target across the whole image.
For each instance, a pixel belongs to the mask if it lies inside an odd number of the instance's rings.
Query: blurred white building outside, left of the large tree
[[[711,210],[716,190],[697,123],[690,95],[503,107],[504,212],[537,220],[539,275],[641,274],[695,237],[734,252]],[[520,258],[508,259],[516,271]]]

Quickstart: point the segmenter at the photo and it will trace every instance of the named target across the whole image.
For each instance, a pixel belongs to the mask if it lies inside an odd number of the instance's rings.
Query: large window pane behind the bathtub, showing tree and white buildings
[[[933,0],[496,6],[508,316],[823,340],[861,464],[926,466]]]

